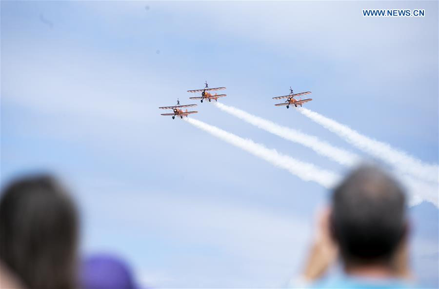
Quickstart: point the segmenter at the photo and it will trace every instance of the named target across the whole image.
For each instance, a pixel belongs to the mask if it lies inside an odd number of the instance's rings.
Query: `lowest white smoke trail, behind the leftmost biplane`
[[[192,124],[231,145],[235,145],[271,163],[272,165],[288,170],[291,174],[299,177],[303,181],[314,181],[325,188],[331,188],[340,180],[340,176],[331,171],[327,171],[319,168],[316,165],[301,162],[289,156],[280,154],[275,149],[266,148],[265,146],[257,144],[252,140],[243,139],[216,126],[205,124],[192,118],[184,118],[184,120],[189,124]]]

